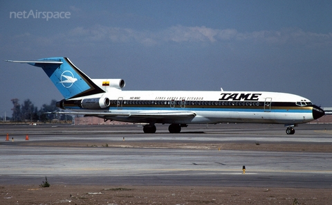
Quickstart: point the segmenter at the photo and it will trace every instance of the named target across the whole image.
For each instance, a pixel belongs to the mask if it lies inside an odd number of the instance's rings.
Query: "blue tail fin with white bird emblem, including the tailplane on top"
[[[65,99],[89,96],[105,91],[80,71],[68,57],[48,57],[39,60],[7,60],[41,67]]]

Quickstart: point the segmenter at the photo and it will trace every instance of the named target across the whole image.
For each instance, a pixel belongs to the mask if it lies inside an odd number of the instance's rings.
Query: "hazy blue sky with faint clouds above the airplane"
[[[122,78],[123,90],[278,91],[332,107],[331,10],[319,0],[0,0],[0,116],[13,98],[63,99],[42,69],[4,61],[44,57]]]

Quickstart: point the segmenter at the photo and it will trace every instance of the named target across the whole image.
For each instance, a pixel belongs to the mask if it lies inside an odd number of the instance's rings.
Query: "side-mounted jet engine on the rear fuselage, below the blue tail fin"
[[[83,100],[61,100],[56,106],[61,109],[71,109],[81,107],[84,109],[103,109],[109,107],[111,101],[109,98],[86,98]]]

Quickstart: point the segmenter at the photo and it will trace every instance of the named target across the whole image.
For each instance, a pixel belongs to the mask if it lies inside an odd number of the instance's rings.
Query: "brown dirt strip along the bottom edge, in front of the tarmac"
[[[331,204],[332,189],[206,186],[0,186],[0,204]]]

